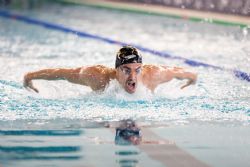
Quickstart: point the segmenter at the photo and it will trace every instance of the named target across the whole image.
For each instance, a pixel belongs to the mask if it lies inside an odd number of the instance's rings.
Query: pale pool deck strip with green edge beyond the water
[[[190,9],[180,9],[160,5],[150,5],[141,3],[118,2],[111,0],[62,0],[68,3],[82,4],[93,7],[124,10],[135,13],[162,15],[173,18],[182,18],[186,20],[209,22],[223,25],[234,25],[241,27],[250,27],[250,18],[232,14],[212,13],[205,11],[196,11]]]

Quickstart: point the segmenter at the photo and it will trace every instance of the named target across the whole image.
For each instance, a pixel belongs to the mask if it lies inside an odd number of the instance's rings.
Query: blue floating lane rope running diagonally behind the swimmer
[[[147,52],[147,53],[151,53],[153,55],[159,56],[159,57],[164,57],[164,58],[168,58],[168,59],[177,59],[177,60],[181,60],[183,61],[185,64],[189,65],[189,66],[193,66],[193,67],[205,67],[205,68],[213,68],[216,70],[224,70],[224,71],[229,71],[231,73],[233,73],[237,78],[241,79],[241,80],[245,80],[247,82],[250,82],[250,74],[241,70],[231,70],[231,69],[225,69],[219,66],[214,66],[214,65],[210,65],[207,63],[203,63],[203,62],[199,62],[196,60],[191,60],[191,59],[186,59],[180,56],[173,56],[170,55],[169,53],[166,52],[160,52],[160,51],[156,51],[153,49],[149,49],[146,47],[142,47],[140,45],[135,45],[135,44],[131,44],[131,43],[125,43],[125,42],[121,42],[121,41],[117,41],[117,40],[113,40],[110,38],[106,38],[106,37],[102,37],[102,36],[98,36],[98,35],[94,35],[94,34],[90,34],[84,31],[78,31],[78,30],[74,30],[62,25],[58,25],[58,24],[53,24],[53,23],[49,23],[46,21],[42,21],[42,20],[38,20],[38,19],[33,19],[33,18],[29,18],[26,16],[22,16],[22,15],[18,15],[18,14],[13,14],[9,11],[4,11],[4,10],[0,10],[0,16],[7,18],[7,19],[13,19],[13,20],[19,20],[28,24],[33,24],[33,25],[38,25],[38,26],[42,26],[48,29],[52,29],[52,30],[57,30],[57,31],[61,31],[64,33],[71,33],[74,35],[77,35],[79,37],[82,38],[91,38],[94,40],[98,40],[98,41],[103,41],[109,44],[113,44],[113,45],[133,45],[135,47],[137,47],[139,50],[143,51],[143,52]]]

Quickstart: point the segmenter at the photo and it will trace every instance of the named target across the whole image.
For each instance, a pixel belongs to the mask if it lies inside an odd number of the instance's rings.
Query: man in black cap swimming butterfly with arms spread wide
[[[183,68],[143,65],[142,57],[137,49],[132,46],[124,46],[117,52],[115,68],[95,65],[72,69],[43,69],[27,73],[24,76],[23,84],[24,87],[38,93],[39,91],[33,86],[32,80],[64,79],[71,83],[89,86],[94,91],[103,91],[109,82],[115,79],[126,92],[132,94],[136,91],[139,82],[154,92],[159,84],[168,82],[173,78],[188,80],[181,87],[183,89],[194,84],[197,75]]]

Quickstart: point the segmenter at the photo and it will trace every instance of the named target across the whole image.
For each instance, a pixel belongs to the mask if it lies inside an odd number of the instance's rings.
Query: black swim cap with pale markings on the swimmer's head
[[[142,57],[135,47],[123,46],[116,54],[115,68],[130,63],[142,63]]]

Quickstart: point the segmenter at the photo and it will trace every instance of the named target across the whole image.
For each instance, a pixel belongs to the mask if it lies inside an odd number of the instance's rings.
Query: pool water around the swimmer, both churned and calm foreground
[[[59,4],[11,12],[173,56],[250,71],[247,29]],[[0,18],[0,26],[0,165],[165,166],[152,156],[152,148],[145,148],[157,144],[114,143],[115,122],[132,118],[146,129],[146,141],[171,141],[209,166],[249,166],[250,86],[232,72],[142,52],[145,64],[198,72],[197,84],[180,90],[184,82],[174,80],[159,86],[155,94],[142,87],[128,95],[115,82],[98,94],[65,81],[34,81],[40,90],[36,94],[22,87],[26,72],[92,64],[113,67],[119,45],[6,18]],[[114,126],[105,128],[107,122]],[[158,145],[159,150],[164,147]]]

